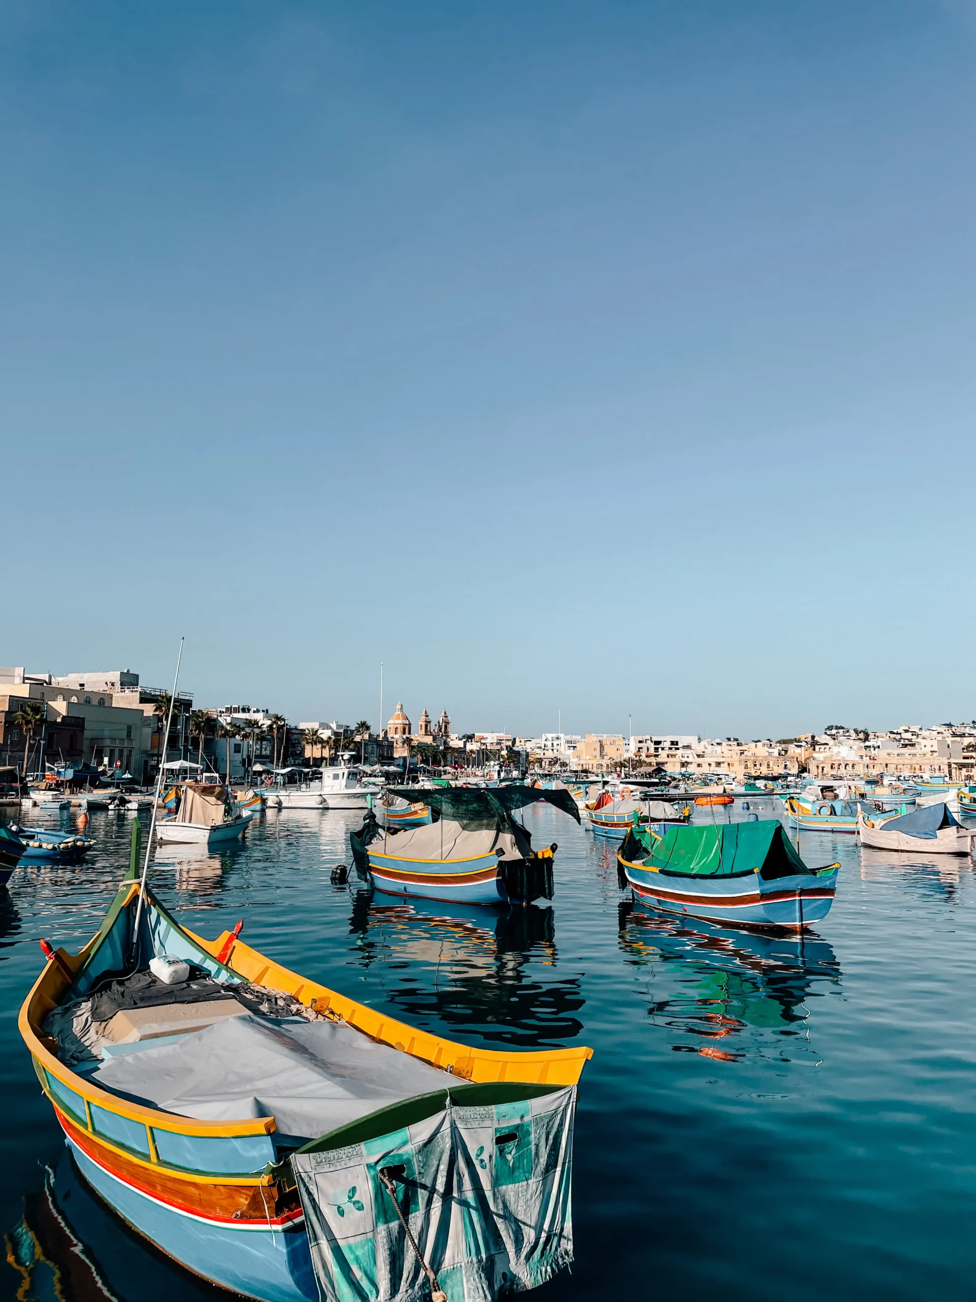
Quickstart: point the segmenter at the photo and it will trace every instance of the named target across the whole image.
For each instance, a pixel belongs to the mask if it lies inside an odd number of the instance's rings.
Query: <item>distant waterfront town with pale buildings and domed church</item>
[[[53,766],[91,766],[129,773],[148,785],[160,759],[199,763],[232,781],[285,767],[320,767],[345,755],[371,767],[416,767],[483,772],[487,768],[547,773],[635,773],[686,777],[794,777],[946,773],[968,781],[976,767],[976,721],[904,725],[869,732],[832,724],[822,733],[776,741],[703,738],[674,733],[454,733],[446,710],[436,721],[424,708],[416,730],[402,702],[385,727],[366,719],[289,721],[268,707],[198,707],[191,691],[173,703],[130,669],[27,673],[0,668],[0,766],[42,773]]]

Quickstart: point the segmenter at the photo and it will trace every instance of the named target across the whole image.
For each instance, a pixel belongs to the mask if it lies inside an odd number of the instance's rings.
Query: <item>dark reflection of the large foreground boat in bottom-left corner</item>
[[[112,1215],[79,1178],[65,1148],[44,1168],[39,1193],[23,1198],[23,1216],[4,1236],[13,1288],[25,1302],[220,1302],[230,1297],[181,1271]]]

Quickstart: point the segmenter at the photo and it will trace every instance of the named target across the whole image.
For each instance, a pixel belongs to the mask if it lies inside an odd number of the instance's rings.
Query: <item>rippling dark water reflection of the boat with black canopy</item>
[[[521,1048],[567,1044],[583,1030],[575,1016],[584,1004],[583,974],[549,980],[534,971],[557,965],[552,909],[380,904],[358,891],[350,931],[360,937],[366,967],[388,963],[396,971],[385,999],[400,1017]]]

